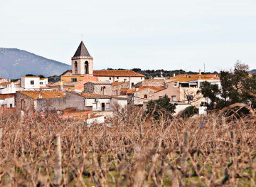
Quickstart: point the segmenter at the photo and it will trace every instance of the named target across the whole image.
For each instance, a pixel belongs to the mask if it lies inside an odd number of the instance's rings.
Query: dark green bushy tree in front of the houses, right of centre
[[[159,98],[159,100],[150,100],[148,102],[147,114],[154,116],[154,119],[171,118],[176,109],[176,104],[170,103],[171,99],[165,95]]]

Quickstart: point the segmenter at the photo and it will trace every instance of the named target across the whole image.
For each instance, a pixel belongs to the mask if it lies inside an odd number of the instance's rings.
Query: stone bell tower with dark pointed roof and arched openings
[[[93,57],[82,41],[71,60],[73,75],[93,75]]]

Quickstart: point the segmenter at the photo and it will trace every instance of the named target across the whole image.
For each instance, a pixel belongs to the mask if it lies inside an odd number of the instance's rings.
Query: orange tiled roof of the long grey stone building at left
[[[37,100],[39,95],[42,95],[43,99],[65,97],[63,92],[56,91],[18,91],[18,93],[31,97],[33,100]]]

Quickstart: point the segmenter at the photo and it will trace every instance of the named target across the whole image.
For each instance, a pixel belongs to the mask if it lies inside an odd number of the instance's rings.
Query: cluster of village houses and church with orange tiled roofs
[[[180,74],[171,78],[145,79],[132,70],[94,70],[93,57],[81,41],[71,58],[72,70],[60,75],[60,81],[26,75],[16,82],[0,79],[0,106],[15,109],[21,116],[38,117],[55,114],[64,119],[75,119],[87,124],[104,123],[113,116],[117,105],[134,105],[146,111],[149,100],[167,95],[176,104],[175,114],[186,107],[199,108],[207,114],[202,103],[203,82],[220,85],[218,74]]]

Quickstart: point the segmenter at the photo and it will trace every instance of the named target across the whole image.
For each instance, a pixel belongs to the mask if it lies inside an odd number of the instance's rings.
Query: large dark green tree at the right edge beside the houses
[[[235,103],[244,103],[255,108],[256,75],[250,77],[248,70],[248,65],[238,61],[233,72],[220,72],[221,87],[204,82],[201,92],[210,99],[208,109],[223,109]],[[241,111],[243,114],[248,112],[245,108]]]

